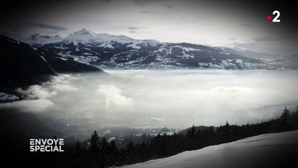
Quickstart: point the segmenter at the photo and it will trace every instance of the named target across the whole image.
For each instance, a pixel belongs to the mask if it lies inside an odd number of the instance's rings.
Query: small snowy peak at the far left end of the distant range
[[[31,46],[43,46],[45,44],[50,44],[50,43],[55,43],[57,41],[61,41],[63,38],[60,37],[59,35],[56,36],[48,36],[48,35],[39,35],[39,34],[34,34],[28,39],[24,40],[23,42],[30,44]]]

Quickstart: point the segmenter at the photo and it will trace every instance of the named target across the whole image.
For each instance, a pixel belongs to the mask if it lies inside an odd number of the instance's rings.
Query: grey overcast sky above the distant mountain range
[[[281,12],[281,23],[266,19],[273,10]],[[6,16],[2,15],[1,34],[14,38],[34,33],[66,37],[86,28],[136,39],[292,55],[298,53],[297,32],[288,13],[284,6],[238,1],[32,1],[8,6]]]

